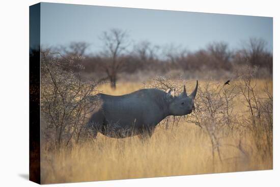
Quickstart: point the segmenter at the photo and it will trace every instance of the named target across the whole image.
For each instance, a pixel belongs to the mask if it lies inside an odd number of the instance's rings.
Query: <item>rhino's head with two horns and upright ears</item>
[[[179,96],[172,94],[171,90],[166,93],[166,99],[169,105],[169,114],[173,116],[183,116],[190,114],[194,111],[193,100],[198,91],[198,81],[192,93],[188,96],[186,92],[186,87],[184,85],[184,90]]]

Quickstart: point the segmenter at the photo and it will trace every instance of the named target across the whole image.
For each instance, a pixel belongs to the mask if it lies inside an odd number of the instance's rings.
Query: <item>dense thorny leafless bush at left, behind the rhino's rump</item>
[[[81,81],[82,59],[41,51],[41,136],[49,148],[77,143],[88,114],[98,105],[90,97],[98,83]]]

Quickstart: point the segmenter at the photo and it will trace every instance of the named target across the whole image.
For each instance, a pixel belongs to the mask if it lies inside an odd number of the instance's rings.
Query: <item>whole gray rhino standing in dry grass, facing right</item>
[[[87,128],[94,138],[98,132],[111,138],[151,137],[155,126],[165,117],[183,116],[194,110],[197,89],[198,81],[189,96],[185,86],[179,96],[158,89],[142,89],[121,96],[97,94],[94,97],[100,99],[101,107],[91,115]]]

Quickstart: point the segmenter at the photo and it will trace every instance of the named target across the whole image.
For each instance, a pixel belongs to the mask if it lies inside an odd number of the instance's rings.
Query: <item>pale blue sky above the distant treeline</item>
[[[102,32],[118,28],[135,43],[173,43],[193,51],[214,41],[234,49],[242,40],[261,37],[272,51],[272,22],[271,17],[42,3],[41,44],[85,41],[91,44],[88,53],[98,52]]]

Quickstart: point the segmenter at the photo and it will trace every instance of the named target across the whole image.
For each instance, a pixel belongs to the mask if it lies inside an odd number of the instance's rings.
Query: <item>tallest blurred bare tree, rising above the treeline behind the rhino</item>
[[[103,32],[100,40],[104,42],[104,51],[101,55],[106,59],[102,62],[102,67],[110,80],[111,88],[116,89],[117,74],[123,65],[120,56],[130,44],[128,34],[126,31],[111,29]]]

